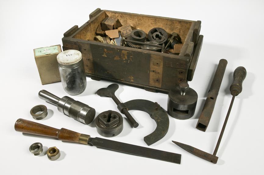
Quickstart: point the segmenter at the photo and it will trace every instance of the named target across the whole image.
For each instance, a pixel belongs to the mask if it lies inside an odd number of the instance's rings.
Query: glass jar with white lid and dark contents
[[[86,88],[86,75],[80,51],[65,50],[58,54],[57,61],[63,89],[70,95],[81,94]]]

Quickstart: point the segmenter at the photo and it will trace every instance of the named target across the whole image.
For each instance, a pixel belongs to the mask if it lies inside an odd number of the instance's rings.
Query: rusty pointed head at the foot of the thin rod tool
[[[184,143],[175,142],[175,141],[172,141],[172,142],[175,143],[176,145],[180,146],[185,151],[188,151],[189,153],[193,154],[194,156],[200,157],[200,158],[207,160],[209,162],[212,162],[214,164],[217,163],[217,160],[218,160],[217,156],[206,153],[200,149],[194,148],[193,146],[186,145]]]

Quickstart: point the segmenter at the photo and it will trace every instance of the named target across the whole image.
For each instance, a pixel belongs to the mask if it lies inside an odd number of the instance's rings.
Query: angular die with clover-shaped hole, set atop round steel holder
[[[107,113],[99,116],[99,123],[105,128],[110,128],[119,123],[119,116],[113,114],[112,111],[107,111]]]

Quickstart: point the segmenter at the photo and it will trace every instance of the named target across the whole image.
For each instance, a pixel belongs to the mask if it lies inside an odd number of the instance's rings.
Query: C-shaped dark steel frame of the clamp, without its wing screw
[[[130,100],[124,103],[128,110],[140,110],[147,112],[150,117],[155,120],[157,127],[154,132],[144,137],[144,141],[147,145],[162,139],[169,129],[169,117],[163,108],[157,102],[152,102],[143,99]]]

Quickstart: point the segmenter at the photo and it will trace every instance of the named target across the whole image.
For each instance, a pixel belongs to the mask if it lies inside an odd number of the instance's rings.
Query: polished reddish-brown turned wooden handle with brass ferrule
[[[74,132],[65,128],[56,129],[47,125],[42,125],[40,123],[32,122],[22,118],[16,121],[15,130],[18,132],[55,137],[62,141],[76,142],[83,144],[88,144],[88,141],[90,139],[90,136],[86,134],[80,134],[78,132]]]

